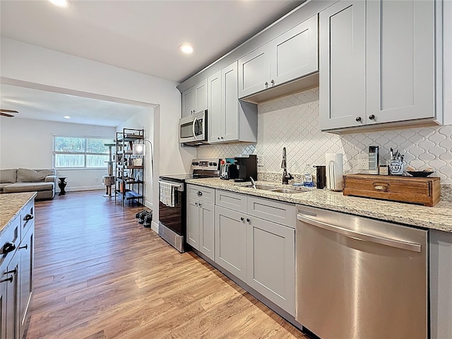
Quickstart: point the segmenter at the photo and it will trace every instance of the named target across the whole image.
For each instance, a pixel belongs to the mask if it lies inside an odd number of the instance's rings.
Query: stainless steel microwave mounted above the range
[[[207,109],[179,119],[179,143],[185,145],[207,143]]]

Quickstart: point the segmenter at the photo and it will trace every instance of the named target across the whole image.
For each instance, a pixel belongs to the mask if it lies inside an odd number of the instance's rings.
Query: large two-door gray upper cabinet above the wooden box
[[[434,29],[434,1],[339,1],[322,11],[321,129],[433,121]]]

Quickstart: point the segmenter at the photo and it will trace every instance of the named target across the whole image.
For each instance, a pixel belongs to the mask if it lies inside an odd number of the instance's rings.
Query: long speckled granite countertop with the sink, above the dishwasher
[[[251,189],[244,185],[249,183],[234,183],[218,178],[189,179],[187,184],[225,189],[263,198],[287,201],[299,205],[324,208],[353,215],[362,215],[379,220],[397,222],[403,225],[426,227],[432,230],[452,232],[452,202],[440,201],[434,207],[413,205],[411,203],[397,203],[395,201],[383,201],[371,198],[359,198],[344,196],[342,192],[328,191],[327,189],[299,188],[300,194],[282,194],[271,191]],[[293,186],[275,184],[274,182],[262,182],[257,184],[273,185],[287,189],[295,189]]]

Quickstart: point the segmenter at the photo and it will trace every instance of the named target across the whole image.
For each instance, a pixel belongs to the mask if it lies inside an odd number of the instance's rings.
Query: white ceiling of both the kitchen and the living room
[[[1,0],[0,32],[14,40],[182,82],[302,2],[71,0],[68,8],[59,8],[47,0]],[[194,53],[179,52],[182,43],[194,45]],[[25,119],[102,126],[117,126],[143,109],[4,84],[0,106],[18,110],[17,117]]]

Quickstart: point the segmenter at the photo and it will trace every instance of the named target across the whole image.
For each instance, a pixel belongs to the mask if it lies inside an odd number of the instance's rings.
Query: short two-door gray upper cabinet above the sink
[[[239,59],[239,97],[319,70],[317,16]]]

